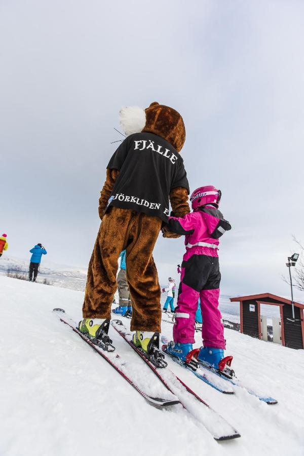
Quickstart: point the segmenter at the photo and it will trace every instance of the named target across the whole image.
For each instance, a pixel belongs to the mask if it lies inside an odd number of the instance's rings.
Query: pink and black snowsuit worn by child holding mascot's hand
[[[218,310],[220,272],[218,238],[231,230],[229,222],[213,205],[184,217],[169,217],[170,231],[185,235],[186,253],[181,264],[173,339],[195,343],[195,314],[201,298],[202,337],[205,347],[225,349],[224,327]]]

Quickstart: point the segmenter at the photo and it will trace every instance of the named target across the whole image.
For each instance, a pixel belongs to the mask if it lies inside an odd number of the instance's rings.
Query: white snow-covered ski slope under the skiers
[[[238,376],[278,399],[274,406],[238,388],[222,395],[170,363],[242,434],[217,443],[184,409],[150,407],[52,313],[63,307],[79,320],[82,301],[79,291],[0,277],[1,456],[303,454],[303,351],[226,329]],[[170,337],[172,325],[163,323],[162,331]],[[133,360],[134,374],[142,372],[141,382],[163,394],[112,328],[111,336]]]

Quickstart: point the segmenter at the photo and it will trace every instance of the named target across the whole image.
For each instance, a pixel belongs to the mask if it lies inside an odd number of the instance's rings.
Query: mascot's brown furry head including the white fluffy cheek
[[[181,115],[173,108],[156,101],[146,109],[127,106],[120,110],[120,123],[126,135],[150,132],[166,139],[178,152],[186,137]]]

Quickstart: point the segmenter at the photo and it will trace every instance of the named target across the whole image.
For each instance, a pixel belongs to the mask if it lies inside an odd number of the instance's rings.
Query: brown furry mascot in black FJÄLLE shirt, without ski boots
[[[131,330],[160,332],[161,289],[152,253],[162,225],[164,237],[178,237],[166,229],[169,199],[176,217],[189,212],[188,181],[179,155],[185,127],[176,110],[157,102],[145,110],[124,108],[120,116],[128,136],[106,170],[83,317],[110,318],[118,258],[126,249]]]

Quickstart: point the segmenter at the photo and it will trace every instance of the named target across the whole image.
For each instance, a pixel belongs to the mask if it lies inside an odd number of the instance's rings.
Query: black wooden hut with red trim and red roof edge
[[[289,299],[271,293],[253,294],[230,298],[232,302],[240,302],[240,331],[261,339],[260,305],[280,307],[281,342],[285,347],[304,349],[304,305],[294,302],[294,319]]]

